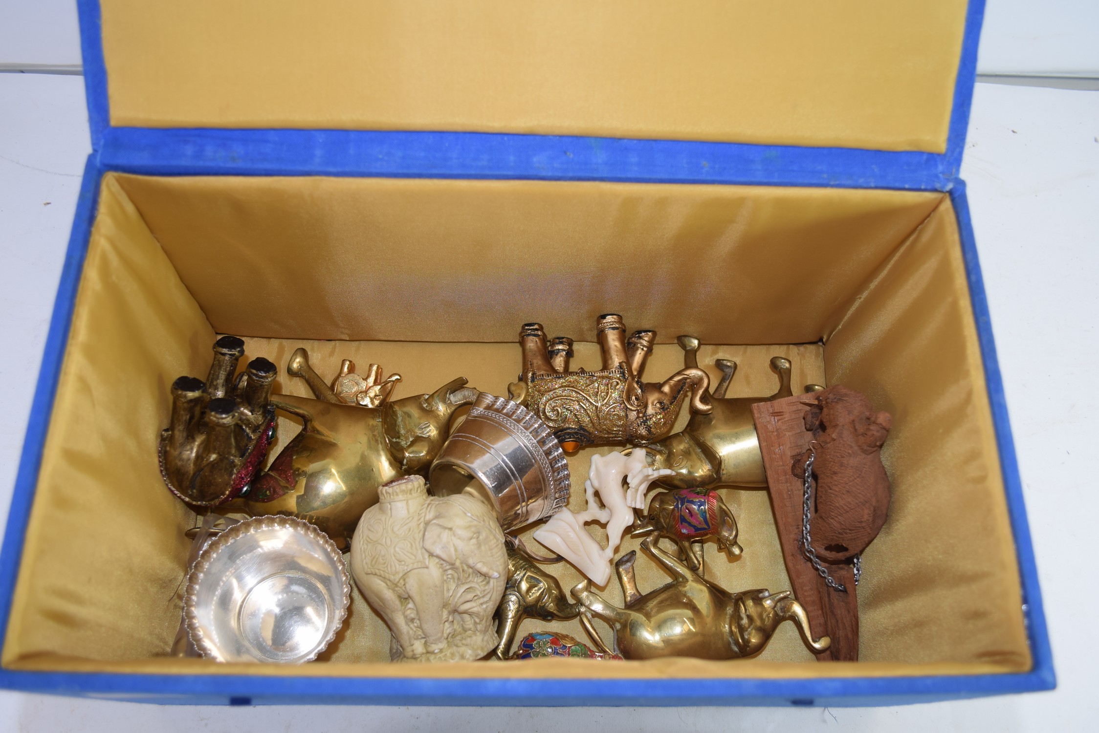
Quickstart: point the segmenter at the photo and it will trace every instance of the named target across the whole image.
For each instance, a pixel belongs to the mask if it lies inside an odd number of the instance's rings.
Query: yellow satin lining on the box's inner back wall
[[[284,338],[818,341],[941,195],[392,178],[119,185],[210,323]],[[262,306],[260,302],[262,301]]]

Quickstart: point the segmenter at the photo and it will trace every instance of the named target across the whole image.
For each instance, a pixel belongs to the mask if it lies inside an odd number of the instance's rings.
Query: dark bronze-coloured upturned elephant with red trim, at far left
[[[211,507],[241,493],[275,438],[268,403],[277,369],[252,359],[234,380],[244,342],[222,336],[213,345],[206,381],[180,377],[171,385],[171,422],[162,433],[160,476],[184,501]]]

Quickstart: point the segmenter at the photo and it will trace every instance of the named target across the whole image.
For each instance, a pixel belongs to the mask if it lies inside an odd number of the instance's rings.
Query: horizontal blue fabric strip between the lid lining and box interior
[[[519,178],[945,190],[942,156],[466,132],[111,127],[109,170],[158,175]]]

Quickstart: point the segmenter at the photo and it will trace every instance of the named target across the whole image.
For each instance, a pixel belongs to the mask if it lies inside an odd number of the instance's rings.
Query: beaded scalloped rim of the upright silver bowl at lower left
[[[199,554],[198,559],[195,560],[195,565],[191,566],[190,573],[187,576],[187,590],[184,593],[184,617],[187,619],[187,635],[190,637],[191,643],[195,644],[196,648],[202,653],[202,656],[215,662],[225,662],[218,646],[210,641],[210,638],[203,635],[202,625],[199,623],[198,612],[195,610],[198,602],[199,584],[201,582],[203,575],[210,569],[210,564],[213,559],[218,557],[221,551],[224,549],[231,542],[245,534],[251,534],[252,532],[258,530],[269,529],[293,530],[307,534],[310,538],[315,540],[318,544],[324,547],[325,552],[328,552],[329,557],[332,559],[332,564],[340,569],[340,579],[343,581],[343,603],[335,609],[336,615],[332,624],[332,631],[330,631],[329,635],[324,638],[324,643],[317,646],[315,652],[310,654],[308,657],[293,662],[292,664],[306,664],[307,662],[313,662],[317,659],[320,653],[329,647],[329,644],[335,640],[336,634],[338,634],[340,630],[343,629],[344,621],[347,618],[347,607],[351,604],[351,576],[347,573],[347,566],[344,565],[343,554],[340,552],[340,548],[336,547],[336,544],[314,525],[304,520],[300,520],[297,517],[253,517],[244,520],[240,524],[234,524],[214,537],[210,544],[203,547],[201,554]],[[256,662],[263,663],[262,659],[256,659]],[[273,662],[271,664],[278,663]]]

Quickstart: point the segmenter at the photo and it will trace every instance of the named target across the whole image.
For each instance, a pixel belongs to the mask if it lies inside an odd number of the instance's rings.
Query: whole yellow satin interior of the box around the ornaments
[[[1029,669],[1019,573],[957,226],[936,192],[650,184],[108,174],[76,301],[2,664],[20,669],[240,673],[168,657],[195,515],[163,486],[169,385],[204,377],[219,333],[285,370],[306,346],[403,381],[456,376],[504,395],[519,326],[537,320],[598,366],[595,320],[655,329],[653,380],[739,364],[730,396],[765,396],[774,355],[795,387],[843,384],[889,411],[889,519],[864,556],[861,662],[818,664],[790,624],[756,658],[390,665],[388,631],[353,591],[318,663],[247,674],[809,677]],[[243,364],[243,360],[242,360]],[[280,376],[276,392],[309,396]],[[686,415],[680,417],[680,425]],[[280,421],[279,443],[296,424]],[[276,452],[277,452],[276,447]],[[582,508],[590,457],[570,459]],[[708,577],[789,588],[766,490],[725,487],[745,552],[707,545]],[[526,534],[529,535],[530,530]],[[532,541],[533,542],[533,541]],[[626,540],[620,552],[636,546]],[[666,576],[639,560],[648,590]],[[566,588],[579,579],[553,566]],[[617,581],[603,595],[620,602]],[[525,621],[520,634],[545,629]],[[554,630],[584,638],[578,625]],[[606,632],[606,629],[604,629]],[[606,636],[609,638],[609,634]]]

